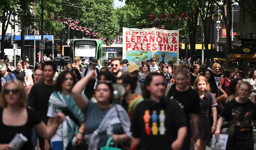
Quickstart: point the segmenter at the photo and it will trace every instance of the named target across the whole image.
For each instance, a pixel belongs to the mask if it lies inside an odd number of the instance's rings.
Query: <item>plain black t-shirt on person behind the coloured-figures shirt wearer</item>
[[[187,117],[187,127],[189,126],[189,116],[190,114],[199,114],[200,113],[200,98],[196,91],[192,90],[191,88],[188,88],[188,90],[180,92],[176,89],[176,85],[172,85],[168,97],[172,97],[173,99],[177,100],[178,103],[181,105],[181,108],[183,108],[185,115]]]

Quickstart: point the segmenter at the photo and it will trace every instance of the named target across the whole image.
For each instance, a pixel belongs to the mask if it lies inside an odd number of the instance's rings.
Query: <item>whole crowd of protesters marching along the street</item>
[[[177,66],[153,57],[137,66],[113,57],[102,66],[62,56],[58,73],[46,59],[34,71],[26,59],[16,69],[1,61],[0,150],[12,150],[17,133],[27,138],[21,150],[99,150],[109,138],[123,150],[190,150],[191,141],[205,150],[223,128],[233,131],[226,149],[253,150],[254,68],[246,77],[199,60]]]

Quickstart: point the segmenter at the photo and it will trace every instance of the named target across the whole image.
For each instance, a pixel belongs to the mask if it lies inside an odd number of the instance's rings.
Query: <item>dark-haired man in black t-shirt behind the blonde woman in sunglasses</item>
[[[57,69],[56,64],[53,61],[44,62],[43,66],[43,82],[35,84],[29,93],[27,99],[28,106],[34,108],[41,116],[45,124],[48,122],[47,111],[48,111],[48,101],[51,93],[55,90],[55,82],[53,80],[55,70]],[[48,140],[43,138],[38,138],[41,150],[49,149],[50,145]]]

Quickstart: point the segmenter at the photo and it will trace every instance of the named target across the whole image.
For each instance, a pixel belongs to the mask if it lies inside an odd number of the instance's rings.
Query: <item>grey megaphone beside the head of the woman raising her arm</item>
[[[113,103],[114,104],[120,104],[121,103],[121,98],[124,96],[125,94],[125,87],[122,84],[119,83],[114,83],[112,84],[113,86]]]

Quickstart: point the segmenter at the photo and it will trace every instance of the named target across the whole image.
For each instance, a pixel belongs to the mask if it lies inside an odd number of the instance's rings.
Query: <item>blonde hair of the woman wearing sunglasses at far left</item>
[[[17,89],[20,91],[21,93],[21,97],[20,97],[20,107],[26,107],[27,106],[27,98],[26,98],[26,93],[24,90],[24,86],[23,83],[21,83],[19,80],[11,80],[9,82],[6,82],[5,85],[3,86],[1,93],[0,93],[0,107],[4,108],[7,107],[7,102],[4,98],[4,90],[6,89],[6,87],[10,84],[15,84],[15,86],[17,87]]]

